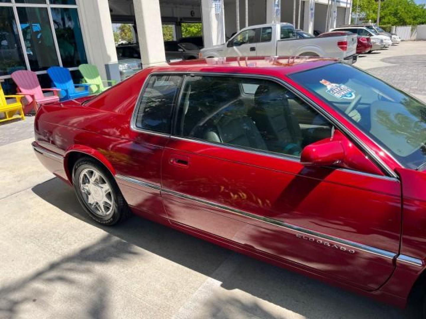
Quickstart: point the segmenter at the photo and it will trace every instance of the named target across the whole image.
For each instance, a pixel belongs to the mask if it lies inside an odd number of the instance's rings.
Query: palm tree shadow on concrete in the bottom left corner
[[[85,317],[102,318],[104,310],[107,309],[107,278],[93,272],[92,267],[116,259],[127,259],[134,254],[133,247],[128,242],[106,234],[72,255],[52,262],[20,280],[1,286],[0,318],[20,317],[20,308],[33,302],[41,303],[43,307],[43,303],[52,298],[51,292],[43,289],[43,285],[54,284],[90,290],[93,302],[86,309]],[[84,276],[86,280],[82,281],[81,276]]]

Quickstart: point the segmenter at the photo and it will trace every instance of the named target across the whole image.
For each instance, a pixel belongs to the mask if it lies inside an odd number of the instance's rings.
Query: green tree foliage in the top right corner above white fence
[[[354,0],[352,11],[356,12],[357,3],[360,14],[365,14],[363,20],[377,20],[376,0]],[[426,23],[425,5],[416,4],[414,0],[381,0],[380,24],[393,26],[419,25]]]

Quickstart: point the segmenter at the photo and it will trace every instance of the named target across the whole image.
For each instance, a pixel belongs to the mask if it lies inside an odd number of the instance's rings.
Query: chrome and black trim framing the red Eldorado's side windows
[[[150,77],[153,76],[153,75],[182,75],[183,76],[183,79],[182,79],[181,84],[180,84],[180,88],[178,88],[178,94],[176,94],[176,96],[178,97],[178,100],[176,100],[176,102],[173,105],[173,114],[172,114],[172,123],[171,123],[170,134],[163,134],[163,133],[158,133],[158,132],[153,132],[153,131],[147,131],[147,130],[135,127],[136,115],[137,115],[137,109],[138,109],[138,107],[137,107],[138,101],[141,99],[142,93],[144,92]],[[277,77],[273,77],[273,76],[270,76],[270,75],[250,74],[250,73],[235,74],[235,73],[229,73],[229,72],[208,72],[208,71],[203,71],[203,72],[201,72],[201,71],[195,71],[195,72],[191,72],[191,71],[158,71],[158,72],[156,72],[156,71],[154,71],[147,76],[147,78],[145,79],[144,85],[141,89],[141,92],[139,93],[138,100],[136,101],[135,108],[133,110],[133,114],[132,114],[132,117],[130,119],[131,129],[133,131],[138,131],[138,132],[143,132],[143,133],[148,133],[148,134],[153,134],[153,135],[173,137],[173,138],[180,139],[180,140],[187,140],[187,141],[192,141],[192,142],[197,142],[197,143],[204,143],[206,145],[214,145],[216,147],[242,150],[242,151],[246,151],[246,152],[249,152],[249,153],[252,153],[252,154],[260,154],[260,155],[264,155],[264,156],[268,156],[268,157],[279,158],[279,159],[287,159],[287,160],[291,160],[291,161],[294,161],[294,162],[300,162],[299,157],[294,157],[294,156],[287,155],[287,154],[278,154],[278,153],[272,153],[272,152],[268,152],[268,151],[255,150],[255,149],[252,149],[252,148],[245,148],[245,147],[238,146],[238,145],[213,143],[213,142],[208,142],[208,141],[205,141],[205,140],[200,140],[200,139],[195,139],[195,138],[186,138],[186,137],[177,136],[175,134],[176,116],[177,116],[176,110],[177,110],[177,107],[180,103],[181,94],[182,94],[182,91],[183,91],[183,88],[184,88],[184,84],[186,82],[186,78],[188,76],[245,77],[245,78],[254,78],[254,79],[262,79],[262,80],[272,80],[273,82],[276,82],[279,85],[282,85],[284,88],[286,88],[291,93],[295,94],[303,102],[307,103],[311,108],[313,108],[320,115],[325,117],[325,119],[328,122],[330,122],[333,126],[335,126],[340,131],[342,131],[342,133],[346,137],[348,137],[352,142],[354,142],[354,144],[357,147],[359,147],[360,150],[363,151],[363,153],[366,153],[371,157],[371,160],[374,162],[374,164],[377,165],[378,168],[380,168],[380,170],[383,171],[383,173],[385,173],[385,175],[381,176],[381,175],[366,173],[366,172],[363,172],[363,171],[352,171],[352,170],[351,170],[351,172],[359,173],[359,174],[367,174],[368,176],[374,176],[374,177],[378,177],[378,178],[386,178],[386,179],[392,179],[392,180],[398,180],[399,181],[399,177],[397,176],[397,174],[395,174],[388,167],[388,165],[386,165],[386,163],[384,163],[379,157],[377,157],[377,155],[374,154],[374,152],[371,151],[370,148],[368,148],[368,146],[365,145],[365,143],[362,140],[360,140],[355,134],[353,134],[348,128],[346,128],[345,125],[343,125],[342,123],[340,123],[339,121],[334,119],[330,114],[328,114],[328,112],[326,112],[323,108],[320,107],[320,105],[315,103],[313,100],[311,100],[308,97],[305,97],[299,90],[293,88],[291,85],[286,83],[284,80],[281,80]],[[340,169],[340,168],[338,168],[338,169]]]

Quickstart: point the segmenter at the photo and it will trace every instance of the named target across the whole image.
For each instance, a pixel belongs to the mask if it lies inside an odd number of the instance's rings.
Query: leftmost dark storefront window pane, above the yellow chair
[[[17,25],[11,7],[0,7],[0,76],[25,69]]]

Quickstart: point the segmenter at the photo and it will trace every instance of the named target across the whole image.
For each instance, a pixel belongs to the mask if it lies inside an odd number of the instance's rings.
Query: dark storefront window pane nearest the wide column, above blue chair
[[[63,66],[87,63],[77,9],[52,8],[52,19]]]

